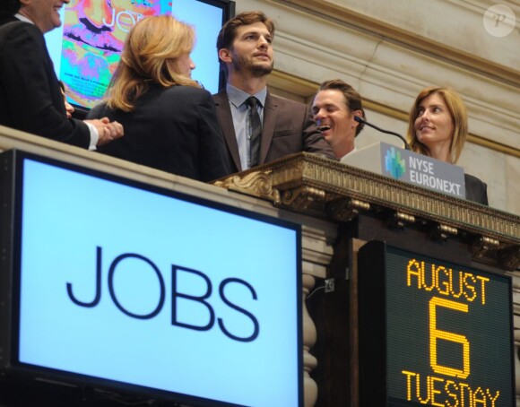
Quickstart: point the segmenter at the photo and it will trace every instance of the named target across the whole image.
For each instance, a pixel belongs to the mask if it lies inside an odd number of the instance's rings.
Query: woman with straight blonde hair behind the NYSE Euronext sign
[[[430,86],[420,91],[410,110],[407,139],[413,152],[455,164],[468,135],[468,115],[460,96],[449,88]],[[466,199],[488,204],[488,187],[464,175]]]

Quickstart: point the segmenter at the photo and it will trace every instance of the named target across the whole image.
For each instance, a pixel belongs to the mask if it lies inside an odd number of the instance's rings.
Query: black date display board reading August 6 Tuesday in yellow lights
[[[516,406],[509,275],[377,240],[358,265],[360,406]]]

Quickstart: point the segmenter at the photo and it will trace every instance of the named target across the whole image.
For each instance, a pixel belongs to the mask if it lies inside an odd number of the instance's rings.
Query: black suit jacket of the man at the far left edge
[[[91,143],[89,127],[65,116],[43,33],[14,17],[0,20],[0,125],[83,148]]]

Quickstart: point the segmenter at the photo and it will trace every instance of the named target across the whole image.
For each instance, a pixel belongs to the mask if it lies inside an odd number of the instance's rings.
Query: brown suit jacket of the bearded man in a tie
[[[231,117],[228,93],[223,90],[213,95],[217,115],[226,146],[232,159],[232,170],[242,170],[238,153],[237,136]],[[294,100],[282,99],[267,92],[264,106],[264,124],[260,164],[280,159],[295,152],[316,152],[336,160],[334,152],[316,129],[308,105]]]

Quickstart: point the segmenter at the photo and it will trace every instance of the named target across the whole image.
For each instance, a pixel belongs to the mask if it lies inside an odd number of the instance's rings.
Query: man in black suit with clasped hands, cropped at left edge
[[[66,118],[63,95],[43,34],[61,25],[70,0],[0,3],[0,125],[85,149],[123,135],[123,126]]]

